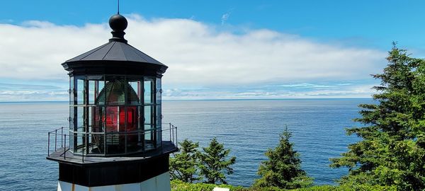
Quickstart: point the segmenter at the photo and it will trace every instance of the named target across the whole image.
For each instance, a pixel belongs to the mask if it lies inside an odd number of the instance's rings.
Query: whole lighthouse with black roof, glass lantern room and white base
[[[48,133],[59,163],[58,191],[171,190],[169,154],[177,128],[162,124],[165,64],[125,40],[128,21],[111,16],[104,45],[62,64],[69,73],[69,127]]]

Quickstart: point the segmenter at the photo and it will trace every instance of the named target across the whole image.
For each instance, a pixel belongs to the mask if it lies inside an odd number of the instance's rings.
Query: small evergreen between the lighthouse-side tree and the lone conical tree
[[[236,157],[232,156],[227,160],[230,149],[225,149],[224,144],[220,144],[216,138],[210,142],[210,146],[203,148],[203,153],[199,154],[200,159],[200,175],[205,177],[205,183],[226,184],[226,176],[233,173],[232,164],[236,161]]]

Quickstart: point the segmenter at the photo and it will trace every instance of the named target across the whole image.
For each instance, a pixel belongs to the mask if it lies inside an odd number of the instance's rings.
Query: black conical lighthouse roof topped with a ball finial
[[[108,43],[62,64],[70,73],[90,74],[111,71],[115,74],[163,74],[168,66],[137,50],[124,39],[128,22],[124,16],[115,14],[109,19],[113,37]],[[137,70],[137,71],[134,71]],[[140,72],[138,72],[140,71]]]

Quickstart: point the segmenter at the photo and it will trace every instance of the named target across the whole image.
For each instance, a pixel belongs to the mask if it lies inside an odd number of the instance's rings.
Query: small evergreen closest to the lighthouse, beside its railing
[[[199,143],[193,143],[188,139],[184,139],[180,144],[180,152],[174,154],[170,158],[170,173],[171,179],[182,180],[186,183],[193,183],[195,180],[200,180],[197,173],[198,166],[198,146]]]

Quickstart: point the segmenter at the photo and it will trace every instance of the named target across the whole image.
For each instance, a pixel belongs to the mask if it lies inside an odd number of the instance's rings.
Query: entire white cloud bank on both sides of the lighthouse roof
[[[222,19],[228,17],[225,14]],[[327,88],[312,82],[370,79],[369,74],[380,73],[385,66],[386,52],[316,42],[273,30],[237,34],[191,19],[148,21],[138,15],[128,16],[128,21],[125,37],[130,45],[169,66],[163,79],[169,88],[289,84],[281,87],[285,88],[295,83]],[[45,21],[0,24],[0,36],[4,37],[0,41],[0,79],[66,83],[67,71],[60,64],[103,45],[110,32],[107,23],[81,27]]]

